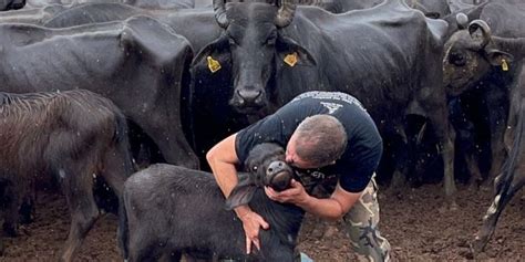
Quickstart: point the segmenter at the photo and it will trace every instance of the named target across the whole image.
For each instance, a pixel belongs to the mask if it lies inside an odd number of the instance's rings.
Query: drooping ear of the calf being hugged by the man
[[[233,210],[234,208],[249,203],[254,193],[257,190],[254,176],[249,174],[240,174],[239,182],[235,186],[234,190],[229,193],[226,199],[226,210]]]

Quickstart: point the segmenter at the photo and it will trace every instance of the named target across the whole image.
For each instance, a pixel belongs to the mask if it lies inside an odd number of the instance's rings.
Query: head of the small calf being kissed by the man
[[[269,186],[277,191],[289,188],[294,170],[285,163],[282,147],[271,143],[257,145],[245,161],[245,174],[226,200],[226,208],[233,209],[248,203],[256,190]]]

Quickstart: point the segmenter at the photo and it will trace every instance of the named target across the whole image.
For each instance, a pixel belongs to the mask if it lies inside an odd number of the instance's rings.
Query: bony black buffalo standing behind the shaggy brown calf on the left
[[[158,146],[167,163],[197,167],[184,137],[179,93],[189,76],[188,42],[154,19],[70,29],[0,24],[0,90],[85,88],[112,99]]]

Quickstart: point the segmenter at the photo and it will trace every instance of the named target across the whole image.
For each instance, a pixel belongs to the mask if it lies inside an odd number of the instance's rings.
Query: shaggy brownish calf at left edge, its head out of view
[[[0,180],[4,231],[16,234],[18,210],[32,185],[59,181],[71,212],[62,261],[71,261],[100,214],[95,182],[121,196],[133,172],[124,115],[89,91],[0,93]]]

